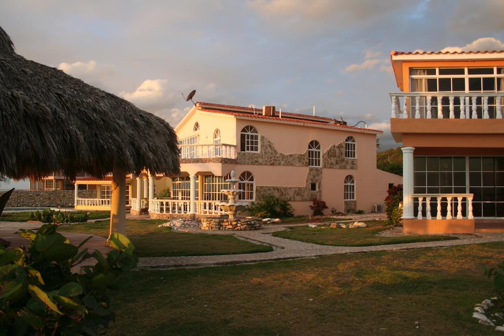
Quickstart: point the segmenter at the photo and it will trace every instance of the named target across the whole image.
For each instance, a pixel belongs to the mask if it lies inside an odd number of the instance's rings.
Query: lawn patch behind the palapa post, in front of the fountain
[[[173,232],[159,228],[165,220],[127,220],[126,232],[135,245],[135,253],[147,256],[215,255],[269,252],[271,246],[253,244],[228,235]],[[61,226],[58,230],[90,233],[108,237],[109,221]]]

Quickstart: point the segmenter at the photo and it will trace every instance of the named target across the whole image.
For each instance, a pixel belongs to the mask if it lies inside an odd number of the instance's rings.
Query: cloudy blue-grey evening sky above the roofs
[[[504,49],[502,13],[502,0],[3,0],[0,25],[19,54],[173,126],[196,89],[197,101],[364,120],[386,149],[390,51]]]

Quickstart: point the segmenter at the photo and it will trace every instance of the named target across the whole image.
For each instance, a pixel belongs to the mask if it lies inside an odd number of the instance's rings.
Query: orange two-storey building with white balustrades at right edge
[[[406,233],[504,231],[504,51],[391,52]]]

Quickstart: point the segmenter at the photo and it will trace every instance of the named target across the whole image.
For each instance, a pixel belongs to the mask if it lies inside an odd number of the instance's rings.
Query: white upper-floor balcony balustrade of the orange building
[[[502,119],[504,92],[391,93],[392,118]]]

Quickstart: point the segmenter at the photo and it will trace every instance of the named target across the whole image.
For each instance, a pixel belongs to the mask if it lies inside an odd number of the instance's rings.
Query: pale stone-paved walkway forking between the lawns
[[[236,238],[250,242],[270,245],[274,248],[271,252],[230,254],[230,255],[198,255],[180,257],[142,257],[139,258],[139,268],[172,268],[172,267],[201,267],[214,265],[230,265],[240,263],[253,263],[263,261],[276,261],[316,257],[329,254],[359,253],[371,251],[395,251],[415,248],[439,248],[466,244],[479,244],[495,241],[504,241],[504,234],[474,235],[469,239],[430,241],[419,243],[405,243],[377,246],[328,246],[305,243],[297,240],[274,237],[271,233],[287,230],[287,226],[306,226],[307,224],[272,225],[257,231],[201,231],[199,229],[186,229],[185,232],[200,234],[225,234],[234,235]],[[350,229],[351,230],[351,229]],[[358,229],[356,229],[358,230]]]

